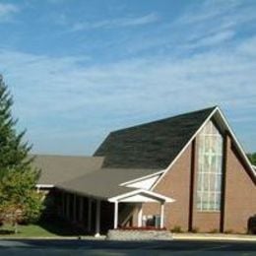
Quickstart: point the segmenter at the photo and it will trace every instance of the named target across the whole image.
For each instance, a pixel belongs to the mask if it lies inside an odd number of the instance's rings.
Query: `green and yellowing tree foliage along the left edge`
[[[13,98],[0,76],[0,218],[1,221],[17,224],[38,218],[42,204],[35,191],[39,175],[32,168],[32,149],[24,143],[25,131],[15,129],[11,107]]]

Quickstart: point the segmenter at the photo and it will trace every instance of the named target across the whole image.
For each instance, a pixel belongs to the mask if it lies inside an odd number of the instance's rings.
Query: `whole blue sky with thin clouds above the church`
[[[0,73],[36,154],[220,105],[256,151],[256,1],[0,0]]]

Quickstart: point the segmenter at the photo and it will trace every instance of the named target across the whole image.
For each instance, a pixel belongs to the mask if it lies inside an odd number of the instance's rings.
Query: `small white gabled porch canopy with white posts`
[[[118,203],[138,203],[139,204],[139,213],[138,213],[138,226],[142,226],[143,221],[143,212],[142,204],[143,203],[160,203],[160,228],[164,225],[164,204],[172,203],[175,200],[159,193],[152,192],[144,189],[137,189],[116,197],[108,199],[109,202],[114,203],[114,228],[118,226]]]

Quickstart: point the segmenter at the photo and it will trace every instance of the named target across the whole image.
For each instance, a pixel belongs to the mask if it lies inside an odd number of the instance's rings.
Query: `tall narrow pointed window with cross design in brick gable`
[[[199,134],[197,210],[220,211],[224,139],[212,121]]]

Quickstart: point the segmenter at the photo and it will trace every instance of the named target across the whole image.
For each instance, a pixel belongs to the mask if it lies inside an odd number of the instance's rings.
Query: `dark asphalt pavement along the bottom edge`
[[[0,255],[256,255],[245,241],[0,240]]]

